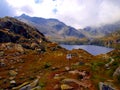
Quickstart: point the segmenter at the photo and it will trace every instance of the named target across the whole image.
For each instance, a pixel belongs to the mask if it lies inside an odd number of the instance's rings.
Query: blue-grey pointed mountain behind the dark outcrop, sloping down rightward
[[[21,16],[17,16],[15,18],[33,27],[36,27],[51,41],[70,42],[72,41],[71,39],[78,41],[79,38],[85,38],[85,36],[78,30],[71,26],[67,26],[57,19],[30,17],[25,14],[22,14]]]

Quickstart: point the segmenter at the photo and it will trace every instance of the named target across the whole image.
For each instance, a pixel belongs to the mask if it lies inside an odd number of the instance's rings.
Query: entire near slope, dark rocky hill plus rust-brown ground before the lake
[[[0,18],[0,90],[119,90],[119,55],[68,51],[23,22]]]

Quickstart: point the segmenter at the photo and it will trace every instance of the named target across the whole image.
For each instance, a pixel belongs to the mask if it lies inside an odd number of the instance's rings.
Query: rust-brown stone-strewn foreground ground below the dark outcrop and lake
[[[71,54],[70,59],[67,54]],[[92,56],[81,49],[68,51],[55,43],[48,44],[44,53],[19,44],[2,43],[0,89],[119,90],[116,61],[120,59],[113,56],[113,53]]]

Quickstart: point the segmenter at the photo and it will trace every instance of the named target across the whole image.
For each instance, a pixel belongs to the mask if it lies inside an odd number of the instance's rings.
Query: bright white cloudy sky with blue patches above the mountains
[[[120,21],[120,0],[0,0],[0,17],[56,18],[75,28]]]

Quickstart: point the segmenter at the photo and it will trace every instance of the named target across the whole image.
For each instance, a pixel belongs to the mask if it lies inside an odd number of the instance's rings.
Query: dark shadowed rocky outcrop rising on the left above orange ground
[[[27,24],[20,22],[11,17],[0,18],[0,43],[18,43],[17,49],[21,48],[35,49],[43,47],[44,42],[48,42],[45,36],[36,28],[30,27]],[[32,45],[32,46],[31,46]]]

